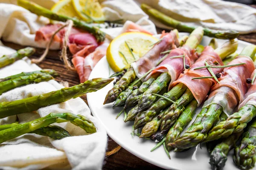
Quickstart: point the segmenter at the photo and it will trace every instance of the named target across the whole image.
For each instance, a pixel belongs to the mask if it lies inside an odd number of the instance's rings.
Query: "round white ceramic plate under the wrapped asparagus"
[[[180,37],[188,35],[187,33],[180,33]],[[159,37],[159,36],[158,36]],[[204,37],[201,44],[208,45],[211,38]],[[227,40],[218,40],[218,45],[222,45]],[[239,47],[237,52],[240,53],[241,50],[250,45],[248,42],[239,41]],[[90,78],[103,77],[108,78],[109,75],[114,74],[114,72],[109,70],[108,62],[106,57],[103,57],[95,66]],[[138,156],[139,158],[148,161],[151,164],[157,165],[165,169],[174,170],[210,170],[209,164],[209,154],[207,153],[204,144],[201,144],[202,149],[198,145],[193,147],[183,153],[170,152],[171,160],[166,155],[163,146],[157,148],[153,152],[150,152],[156,143],[147,139],[139,139],[139,137],[131,136],[131,127],[134,122],[123,122],[124,114],[116,119],[116,115],[122,110],[121,108],[112,109],[113,103],[103,105],[104,99],[108,91],[113,87],[113,82],[107,85],[105,88],[87,94],[88,104],[93,113],[93,116],[97,117],[105,129],[108,135],[123,148],[128,150],[130,153]],[[197,109],[196,113],[200,112],[200,108]],[[195,119],[196,116],[194,116]],[[191,122],[194,122],[194,119]],[[137,133],[137,130],[135,130]],[[230,151],[228,156],[226,166],[224,170],[233,170],[238,168],[233,163],[233,150]],[[256,168],[254,168],[256,170]]]

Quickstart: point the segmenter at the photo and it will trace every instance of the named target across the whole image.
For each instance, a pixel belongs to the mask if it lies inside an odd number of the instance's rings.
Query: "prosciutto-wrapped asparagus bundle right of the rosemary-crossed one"
[[[170,144],[172,147],[186,149],[204,142],[207,132],[214,122],[219,119],[222,111],[232,113],[236,105],[239,104],[239,100],[243,100],[247,91],[246,79],[250,77],[249,75],[255,68],[253,60],[250,59],[254,57],[255,50],[255,45],[247,46],[241,52],[240,57],[237,57],[228,65],[229,67],[224,69],[224,75],[221,77],[219,84],[213,86],[213,91],[204,103],[203,109],[198,114],[195,122],[180,138]],[[236,75],[237,78],[235,79],[233,75]]]

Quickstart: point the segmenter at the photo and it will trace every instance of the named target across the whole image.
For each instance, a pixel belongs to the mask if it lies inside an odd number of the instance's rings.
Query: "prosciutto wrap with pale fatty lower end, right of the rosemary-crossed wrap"
[[[233,65],[243,62],[246,64],[224,68],[223,74],[219,78],[220,83],[212,87],[212,92],[203,107],[215,103],[221,105],[227,115],[233,113],[236,106],[244,100],[249,86],[246,79],[250,78],[255,66],[253,60],[246,56],[236,57],[229,63],[229,65]]]

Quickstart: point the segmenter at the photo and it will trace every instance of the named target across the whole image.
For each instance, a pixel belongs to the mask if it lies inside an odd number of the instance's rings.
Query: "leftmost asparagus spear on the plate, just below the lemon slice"
[[[114,102],[118,97],[119,93],[124,91],[128,85],[136,78],[136,74],[133,68],[129,68],[129,70],[122,76],[122,78],[116,82],[114,87],[108,91],[108,94],[105,98],[104,105]]]

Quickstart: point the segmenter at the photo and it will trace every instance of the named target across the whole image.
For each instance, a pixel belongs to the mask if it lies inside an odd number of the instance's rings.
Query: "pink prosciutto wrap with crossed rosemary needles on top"
[[[186,71],[185,74],[182,74],[179,79],[170,84],[169,89],[174,87],[178,83],[183,83],[192,92],[193,96],[198,102],[198,106],[201,105],[201,103],[207,96],[208,92],[210,91],[212,85],[216,84],[215,79],[192,80],[192,78],[195,77],[212,76],[207,70],[207,68],[194,70],[195,68],[205,66],[205,61],[207,61],[209,65],[214,64],[215,62],[218,62],[218,65],[223,65],[221,57],[219,57],[218,54],[215,53],[212,47],[207,46],[204,48],[204,51],[202,52],[201,56],[198,58],[198,60],[196,60],[196,62],[191,66],[191,68],[188,71]],[[221,73],[222,68],[212,68],[212,71],[214,72],[214,74]]]

